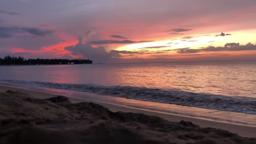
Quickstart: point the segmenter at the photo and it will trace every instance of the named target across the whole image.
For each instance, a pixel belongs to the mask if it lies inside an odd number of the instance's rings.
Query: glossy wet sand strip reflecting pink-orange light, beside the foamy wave
[[[189,118],[202,119],[206,121],[228,123],[235,125],[243,125],[248,127],[256,128],[256,115],[230,112],[230,111],[219,111],[212,109],[205,109],[193,106],[182,106],[167,103],[157,103],[154,101],[144,101],[129,98],[114,97],[112,95],[102,95],[97,93],[72,91],[69,89],[58,89],[58,88],[46,88],[22,85],[17,83],[0,81],[0,86],[9,86],[14,88],[21,88],[26,90],[32,90],[36,92],[51,93],[55,95],[63,95],[65,97],[91,101],[92,103],[109,104],[115,106],[121,106],[131,109],[144,110],[156,113],[164,113],[167,115],[182,116]]]

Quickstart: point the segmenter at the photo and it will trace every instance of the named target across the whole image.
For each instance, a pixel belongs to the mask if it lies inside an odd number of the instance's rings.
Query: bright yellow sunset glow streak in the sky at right
[[[226,43],[240,43],[241,45],[246,45],[247,43],[256,43],[256,29],[250,31],[234,31],[230,32],[231,35],[226,35],[225,37],[218,36],[216,33],[209,35],[186,35],[179,37],[179,39],[174,40],[161,40],[152,41],[149,43],[138,43],[129,44],[125,46],[118,47],[116,50],[120,51],[140,51],[148,50],[150,52],[159,50],[175,50],[183,49],[189,47],[190,49],[201,49],[207,46],[224,46]],[[250,37],[248,37],[250,35]],[[246,36],[246,37],[245,37]],[[173,53],[170,51],[170,53]]]

